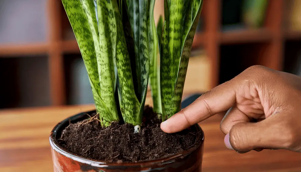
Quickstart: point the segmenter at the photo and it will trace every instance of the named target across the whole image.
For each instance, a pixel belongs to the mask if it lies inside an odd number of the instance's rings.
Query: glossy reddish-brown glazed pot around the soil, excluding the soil
[[[92,114],[95,111],[87,112]],[[201,144],[185,152],[179,152],[167,158],[154,159],[141,162],[123,162],[110,163],[105,161],[94,161],[84,157],[77,156],[62,148],[57,139],[61,136],[61,131],[69,125],[69,122],[76,123],[87,118],[86,113],[76,114],[58,123],[50,134],[50,145],[52,151],[52,160],[54,172],[200,172],[204,133],[199,125],[194,125],[198,132],[198,137],[202,137]]]

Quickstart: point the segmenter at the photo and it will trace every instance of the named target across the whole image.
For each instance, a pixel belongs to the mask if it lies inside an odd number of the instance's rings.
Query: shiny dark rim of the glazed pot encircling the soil
[[[192,152],[194,152],[196,149],[198,149],[201,145],[203,145],[204,142],[204,132],[201,129],[201,127],[198,124],[194,124],[192,127],[195,127],[197,130],[198,134],[197,137],[200,139],[199,144],[195,143],[194,146],[191,149],[188,149],[187,151],[183,152],[178,152],[173,155],[168,155],[167,157],[160,158],[160,159],[150,159],[150,160],[145,160],[145,161],[137,161],[137,162],[122,162],[122,163],[116,163],[116,162],[107,162],[107,161],[98,161],[98,160],[92,160],[88,158],[84,158],[82,156],[73,154],[63,147],[61,147],[58,142],[57,142],[57,135],[58,132],[61,132],[62,129],[67,127],[70,122],[78,122],[80,120],[83,120],[88,117],[87,114],[92,114],[94,113],[95,110],[88,111],[88,112],[82,112],[79,114],[75,114],[73,116],[70,116],[61,122],[59,122],[51,131],[50,136],[49,136],[49,142],[51,145],[51,148],[54,149],[56,152],[66,156],[67,158],[73,159],[75,161],[84,163],[84,164],[89,164],[94,167],[108,167],[108,166],[149,166],[150,164],[168,164],[171,163],[173,160],[177,158],[184,158],[188,155],[190,155]],[[202,136],[202,138],[200,138]]]

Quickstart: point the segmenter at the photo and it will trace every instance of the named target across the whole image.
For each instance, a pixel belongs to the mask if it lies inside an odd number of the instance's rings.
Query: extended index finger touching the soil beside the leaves
[[[161,123],[166,133],[182,131],[215,114],[227,111],[235,101],[235,84],[230,80],[204,93],[182,111]]]

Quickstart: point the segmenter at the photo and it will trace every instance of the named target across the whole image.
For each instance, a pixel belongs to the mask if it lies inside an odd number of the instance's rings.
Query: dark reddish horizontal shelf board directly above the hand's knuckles
[[[220,34],[221,44],[268,42],[272,40],[272,33],[266,29],[233,30]]]

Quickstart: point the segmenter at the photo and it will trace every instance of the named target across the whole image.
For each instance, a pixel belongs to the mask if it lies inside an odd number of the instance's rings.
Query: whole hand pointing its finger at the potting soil
[[[252,66],[200,96],[161,124],[175,133],[215,114],[227,148],[239,153],[262,149],[301,152],[301,77]]]

